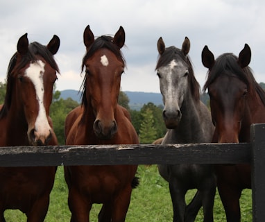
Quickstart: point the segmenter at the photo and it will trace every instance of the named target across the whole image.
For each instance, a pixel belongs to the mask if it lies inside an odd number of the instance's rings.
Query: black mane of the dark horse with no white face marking
[[[212,69],[207,71],[207,80],[203,87],[203,92],[205,92],[207,87],[209,87],[214,80],[221,75],[235,76],[239,78],[247,85],[248,92],[254,96],[253,98],[257,98],[257,92],[262,103],[265,105],[265,92],[255,80],[252,70],[250,67],[242,69],[238,64],[237,56],[234,56],[232,53],[223,53],[215,60]]]

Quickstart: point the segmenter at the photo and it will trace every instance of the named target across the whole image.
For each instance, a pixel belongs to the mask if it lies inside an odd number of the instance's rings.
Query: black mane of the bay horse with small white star
[[[99,49],[104,49],[104,48],[112,51],[112,53],[114,53],[114,55],[117,56],[117,58],[119,60],[121,60],[123,62],[123,64],[126,66],[126,60],[123,57],[123,53],[121,52],[119,46],[114,44],[112,41],[113,41],[113,37],[110,35],[101,35],[100,37],[96,38],[96,40],[90,46],[89,50],[87,51],[87,53],[85,54],[85,56],[83,58],[81,73],[85,69],[86,60],[89,59],[90,57],[92,57],[96,51],[98,51]],[[83,79],[83,83],[80,87],[80,90],[83,88],[81,97],[82,97],[82,105],[85,107],[85,109],[87,108],[87,98],[86,98],[87,85],[86,85],[86,82],[87,82],[87,75],[85,75],[85,77]]]

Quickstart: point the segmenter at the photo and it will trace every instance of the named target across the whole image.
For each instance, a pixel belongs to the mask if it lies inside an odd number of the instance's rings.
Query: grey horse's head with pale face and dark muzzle
[[[182,44],[182,49],[175,46],[166,48],[162,37],[157,41],[157,51],[160,55],[157,61],[157,76],[160,80],[160,92],[164,102],[163,117],[166,128],[176,128],[182,119],[182,104],[198,83],[187,54],[190,42],[188,37]],[[194,83],[191,83],[194,81]],[[195,90],[194,90],[195,92]],[[191,96],[192,97],[192,96]]]

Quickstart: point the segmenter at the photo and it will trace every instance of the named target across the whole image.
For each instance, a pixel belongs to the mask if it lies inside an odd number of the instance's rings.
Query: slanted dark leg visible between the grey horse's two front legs
[[[185,221],[194,222],[200,207],[203,206],[203,195],[199,190],[197,190],[194,198],[191,200],[191,203],[187,205],[185,209]]]

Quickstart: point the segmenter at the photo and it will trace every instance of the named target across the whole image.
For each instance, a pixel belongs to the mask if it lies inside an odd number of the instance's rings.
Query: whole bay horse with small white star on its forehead
[[[121,53],[123,28],[120,26],[114,37],[102,35],[95,40],[87,26],[83,40],[82,105],[67,115],[66,144],[139,144],[129,112],[118,104],[121,74],[126,66]],[[99,221],[125,221],[132,188],[138,182],[136,171],[137,165],[66,166],[71,222],[89,221],[94,203],[103,203]]]

